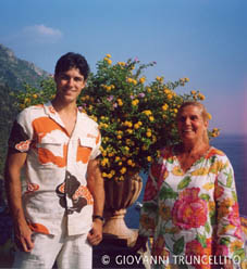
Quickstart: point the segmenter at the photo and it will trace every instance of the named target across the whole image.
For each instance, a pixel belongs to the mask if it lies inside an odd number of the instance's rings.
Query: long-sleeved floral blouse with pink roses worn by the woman
[[[184,172],[174,150],[163,150],[146,183],[139,234],[153,236],[152,256],[187,268],[224,262],[215,261],[217,256],[244,258],[234,172],[226,155],[211,146]]]

